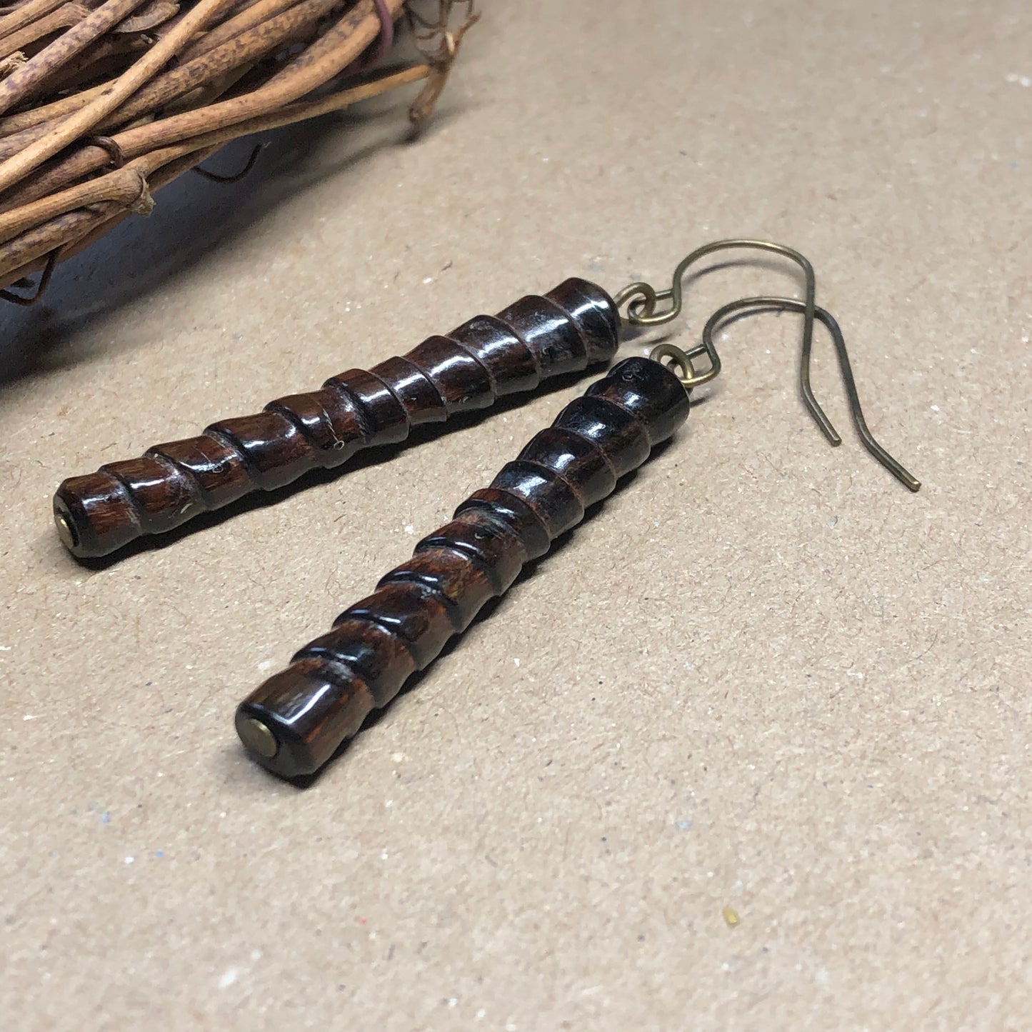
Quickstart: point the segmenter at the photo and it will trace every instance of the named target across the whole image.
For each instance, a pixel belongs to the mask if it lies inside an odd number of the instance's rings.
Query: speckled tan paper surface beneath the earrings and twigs
[[[3,1027],[1028,1029],[1032,11],[483,6],[419,141],[390,101],[278,134],[3,310]],[[584,384],[104,569],[53,533],[64,476],[741,234],[812,259],[921,493],[823,333],[837,450],[797,317],[738,323],[685,431],[307,791],[237,700]],[[800,288],[703,277],[672,340]]]

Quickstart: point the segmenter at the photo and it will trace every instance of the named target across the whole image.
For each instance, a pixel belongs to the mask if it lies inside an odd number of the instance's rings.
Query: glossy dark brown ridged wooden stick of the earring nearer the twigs
[[[213,423],[200,437],[71,477],[54,497],[58,531],[74,555],[107,555],[252,491],[341,465],[360,449],[396,444],[420,423],[485,409],[550,377],[609,361],[618,333],[609,294],[586,280],[567,280],[368,372],[350,369],[320,390]]]

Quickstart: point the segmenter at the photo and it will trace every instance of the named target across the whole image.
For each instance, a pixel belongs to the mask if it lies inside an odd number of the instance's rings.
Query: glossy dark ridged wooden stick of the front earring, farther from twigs
[[[615,365],[240,704],[236,728],[255,759],[284,777],[318,770],[687,414],[670,369],[647,358]]]

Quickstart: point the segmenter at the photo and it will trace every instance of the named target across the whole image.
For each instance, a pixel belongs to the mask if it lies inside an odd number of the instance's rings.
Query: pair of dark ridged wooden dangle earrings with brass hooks
[[[921,487],[868,429],[842,332],[816,305],[813,268],[802,254],[766,240],[718,240],[684,258],[666,290],[633,283],[610,296],[586,280],[567,280],[497,316],[476,316],[447,335],[428,337],[367,372],[351,369],[319,390],[270,401],[254,416],[220,420],[197,438],[156,445],[140,458],[72,477],[54,498],[58,534],[75,556],[107,555],[253,491],[282,487],[314,469],[340,466],[360,449],[398,444],[414,426],[486,409],[499,397],[533,392],[551,377],[608,362],[621,326],[675,319],[688,268],[732,249],[772,252],[797,262],[805,277],[803,299],[733,301],[713,313],[696,347],[685,351],[665,343],[648,358],[612,366],[489,487],[423,538],[412,558],[383,577],[373,594],[346,609],[328,634],[297,651],[286,669],[240,703],[236,731],[260,764],[288,778],[313,774],[370,711],[386,706],[412,674],[462,633],[488,600],[503,594],[527,562],[544,555],[678,429],[691,390],[720,373],[714,335],[733,316],[802,313],[800,391],[825,437],[838,445],[841,438],[810,386],[813,329],[821,322],[865,447],[911,491]],[[700,360],[706,363],[702,369]]]

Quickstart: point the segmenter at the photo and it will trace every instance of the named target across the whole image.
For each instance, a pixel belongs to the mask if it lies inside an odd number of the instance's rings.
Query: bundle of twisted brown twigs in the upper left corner
[[[70,257],[223,143],[425,79],[432,108],[469,13],[425,64],[356,78],[404,0],[19,0],[0,11],[0,287]],[[420,20],[425,30],[426,23]],[[345,82],[342,84],[342,79]],[[44,273],[44,275],[46,275]],[[19,298],[4,291],[10,300]]]

